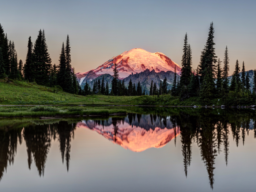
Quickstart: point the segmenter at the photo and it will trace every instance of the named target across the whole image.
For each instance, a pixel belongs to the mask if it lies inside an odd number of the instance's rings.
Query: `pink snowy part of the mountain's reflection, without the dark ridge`
[[[147,131],[141,127],[132,126],[127,122],[117,126],[118,131],[115,133],[113,124],[103,127],[102,125],[95,124],[93,120],[82,121],[77,124],[78,128],[91,129],[113,143],[135,152],[141,152],[152,147],[161,148],[175,138],[174,128],[167,129],[165,127],[161,129],[155,127],[154,130],[149,129]],[[179,133],[179,129],[176,128],[176,136]]]

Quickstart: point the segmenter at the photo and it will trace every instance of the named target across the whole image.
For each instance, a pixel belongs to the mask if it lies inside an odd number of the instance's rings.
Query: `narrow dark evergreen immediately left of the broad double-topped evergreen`
[[[31,37],[29,37],[29,42],[27,44],[27,57],[23,69],[24,79],[28,80],[29,82],[32,81],[32,51],[33,44],[31,42]]]

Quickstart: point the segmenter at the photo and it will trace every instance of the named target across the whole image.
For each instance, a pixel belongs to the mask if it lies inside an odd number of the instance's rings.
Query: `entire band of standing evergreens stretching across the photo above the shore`
[[[17,52],[13,41],[9,41],[0,24],[0,78],[25,80],[39,85],[54,87],[56,91],[63,90],[67,93],[78,95],[113,95],[113,96],[141,96],[141,95],[164,95],[170,94],[180,98],[181,101],[191,97],[197,97],[201,103],[210,103],[213,99],[223,99],[226,105],[251,105],[256,101],[256,69],[253,71],[253,87],[251,89],[249,74],[245,72],[245,64],[242,63],[241,75],[238,60],[231,82],[228,79],[229,57],[226,46],[224,52],[223,68],[222,61],[216,56],[214,48],[214,27],[210,25],[206,45],[204,46],[200,63],[196,69],[192,69],[192,50],[188,43],[188,35],[185,34],[183,55],[181,60],[180,76],[174,69],[174,80],[171,89],[167,89],[166,78],[160,81],[159,86],[151,82],[149,93],[142,90],[140,82],[132,83],[128,87],[124,80],[119,80],[116,64],[111,84],[105,83],[104,78],[94,80],[90,87],[86,82],[82,89],[75,75],[75,69],[71,66],[71,47],[69,36],[66,44],[61,47],[59,65],[52,65],[48,53],[45,31],[39,30],[34,43],[29,37],[25,64],[18,61]],[[157,88],[159,87],[159,88]],[[251,91],[252,90],[252,91]]]

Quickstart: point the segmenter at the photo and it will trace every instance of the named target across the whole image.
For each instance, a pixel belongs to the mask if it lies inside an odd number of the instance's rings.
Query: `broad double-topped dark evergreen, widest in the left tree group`
[[[48,53],[48,47],[46,45],[45,33],[39,31],[37,40],[34,44],[34,50],[32,54],[32,81],[35,80],[37,84],[49,86],[49,72],[51,59]]]

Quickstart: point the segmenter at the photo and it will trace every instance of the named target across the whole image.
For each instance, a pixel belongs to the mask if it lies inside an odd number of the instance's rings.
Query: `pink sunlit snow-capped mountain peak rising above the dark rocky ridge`
[[[174,66],[176,66],[177,73],[179,74],[181,71],[180,66],[165,54],[159,52],[150,53],[144,49],[135,48],[113,57],[96,69],[85,73],[77,73],[76,76],[80,85],[83,83],[84,79],[90,81],[102,74],[113,75],[115,63],[117,64],[120,79],[126,78],[131,74],[140,73],[146,69],[150,71],[154,70],[155,72],[174,72]]]

